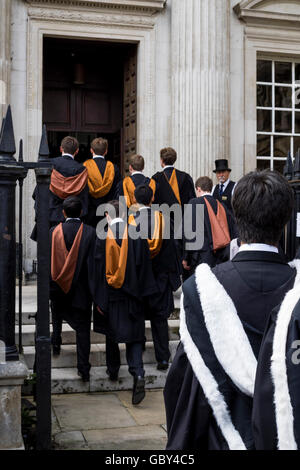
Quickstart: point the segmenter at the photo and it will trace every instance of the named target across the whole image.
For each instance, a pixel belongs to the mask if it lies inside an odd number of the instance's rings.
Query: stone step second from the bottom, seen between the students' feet
[[[170,352],[171,359],[173,359],[177,345],[177,341],[170,341]],[[125,344],[120,344],[121,352],[121,364],[126,365],[126,350]],[[33,368],[34,358],[35,358],[35,347],[34,346],[25,346],[24,351],[24,360],[29,369]],[[155,363],[155,354],[154,346],[152,342],[146,343],[146,351],[143,354],[144,364],[154,364]],[[105,353],[105,344],[92,344],[91,345],[91,354],[90,354],[90,363],[92,367],[101,367],[106,365],[106,353]],[[62,369],[62,368],[75,368],[77,365],[77,356],[76,356],[76,346],[74,344],[63,345],[61,348],[61,353],[59,356],[52,356],[52,368],[53,369]]]

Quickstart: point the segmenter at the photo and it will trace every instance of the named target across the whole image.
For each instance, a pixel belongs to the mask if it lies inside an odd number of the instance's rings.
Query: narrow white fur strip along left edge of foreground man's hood
[[[216,422],[227,441],[229,449],[246,450],[246,446],[239,432],[232,423],[227,404],[223,395],[220,393],[218,384],[209,368],[205,365],[188,331],[183,306],[183,294],[181,295],[180,301],[180,337],[194,374],[203,388],[204,394],[213,411]]]

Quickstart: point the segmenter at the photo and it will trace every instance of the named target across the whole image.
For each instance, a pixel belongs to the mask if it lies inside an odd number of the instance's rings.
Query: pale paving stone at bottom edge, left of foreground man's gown
[[[135,426],[83,431],[93,450],[164,450],[166,433],[160,426]]]

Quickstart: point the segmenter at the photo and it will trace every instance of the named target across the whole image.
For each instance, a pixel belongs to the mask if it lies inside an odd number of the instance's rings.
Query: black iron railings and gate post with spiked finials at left
[[[20,141],[18,161],[10,106],[0,134],[0,340],[5,343],[7,361],[19,360],[22,353],[22,225],[23,182],[29,170],[36,175],[37,298],[36,315],[36,448],[51,448],[51,344],[49,319],[49,183],[52,171],[46,129],[37,161],[24,162]],[[19,248],[16,262],[16,184],[19,182]],[[19,278],[19,345],[15,344],[16,273]]]

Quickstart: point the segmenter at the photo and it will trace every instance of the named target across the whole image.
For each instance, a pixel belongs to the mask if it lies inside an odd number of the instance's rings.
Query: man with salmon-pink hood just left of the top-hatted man
[[[211,196],[212,187],[212,180],[207,176],[198,178],[195,183],[197,198],[190,201],[192,231],[195,233],[197,229],[202,228],[202,222],[204,223],[203,245],[200,249],[189,248],[191,240],[184,238],[182,264],[190,275],[194,274],[200,263],[206,263],[213,268],[229,259],[225,257],[225,248],[229,246],[234,233],[234,220],[227,209]],[[197,221],[196,210],[199,205],[204,206],[204,220]]]

